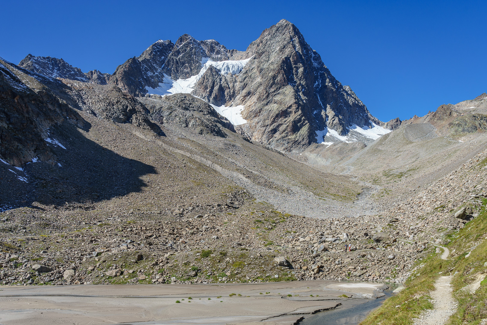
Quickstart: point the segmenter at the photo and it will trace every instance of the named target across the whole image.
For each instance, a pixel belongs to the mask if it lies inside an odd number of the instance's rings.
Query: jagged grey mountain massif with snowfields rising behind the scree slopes
[[[20,66],[46,76],[113,84],[133,96],[190,93],[213,105],[237,132],[284,151],[312,143],[368,144],[400,124],[375,118],[286,19],[262,31],[244,52],[184,34],[175,43],[157,40],[112,75],[83,74],[50,57],[28,56]]]

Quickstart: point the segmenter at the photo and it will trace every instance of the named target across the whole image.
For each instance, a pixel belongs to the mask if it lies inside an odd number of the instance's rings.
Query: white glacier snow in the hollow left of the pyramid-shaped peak
[[[208,70],[210,66],[214,66],[222,75],[232,74],[238,75],[244,69],[245,64],[250,60],[247,58],[245,60],[226,60],[226,61],[212,61],[208,57],[204,57],[201,60],[201,70],[196,76],[190,76],[187,79],[177,79],[173,80],[168,75],[164,75],[163,81],[159,83],[159,87],[150,88],[146,86],[148,94],[155,95],[173,95],[173,94],[190,94],[194,90],[194,86],[201,79],[203,74]],[[244,110],[243,105],[238,105],[235,107],[227,106],[216,106],[210,104],[215,111],[220,115],[225,116],[233,125],[241,125],[247,123],[242,117],[241,112]]]

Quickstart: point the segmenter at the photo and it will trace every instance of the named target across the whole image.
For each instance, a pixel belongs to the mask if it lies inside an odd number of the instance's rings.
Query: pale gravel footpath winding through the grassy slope
[[[444,259],[446,259],[446,257]],[[452,277],[452,275],[441,276],[438,278],[438,280],[436,280],[436,289],[431,292],[434,309],[428,310],[421,314],[421,316],[415,320],[414,325],[445,324],[445,322],[450,318],[450,315],[455,312],[457,303],[451,297],[450,281]]]

